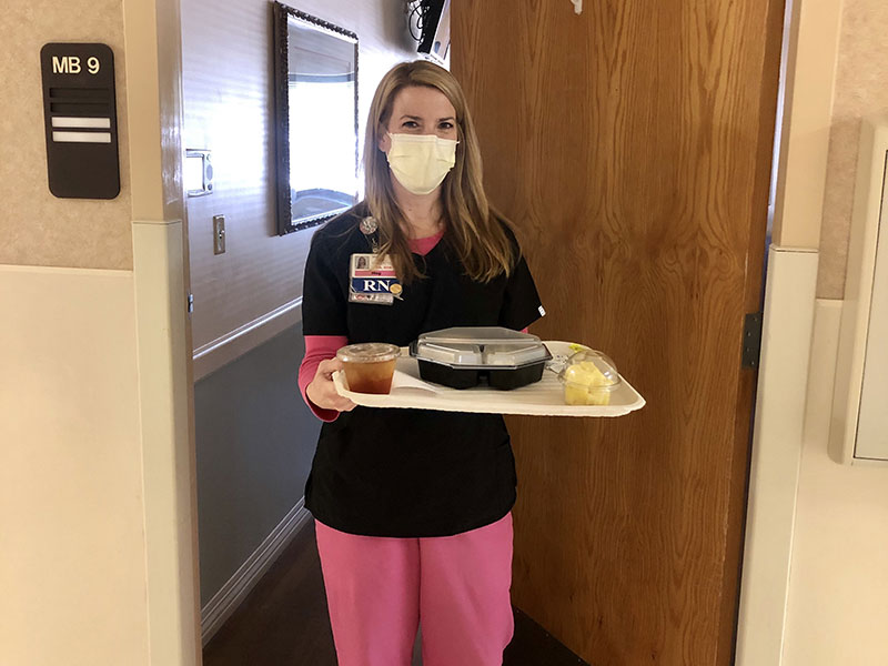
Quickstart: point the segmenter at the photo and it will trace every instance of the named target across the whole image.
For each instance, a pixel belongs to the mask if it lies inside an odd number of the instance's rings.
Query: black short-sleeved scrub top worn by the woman
[[[302,301],[304,335],[344,335],[349,343],[406,346],[451,326],[521,330],[542,307],[519,258],[484,284],[466,276],[442,239],[413,255],[425,279],[405,285],[392,305],[349,302],[349,261],[371,252],[355,209],[312,239]],[[514,240],[514,238],[513,238]],[[341,532],[365,536],[450,536],[490,525],[515,503],[515,460],[500,414],[357,406],[321,428],[305,506]]]

